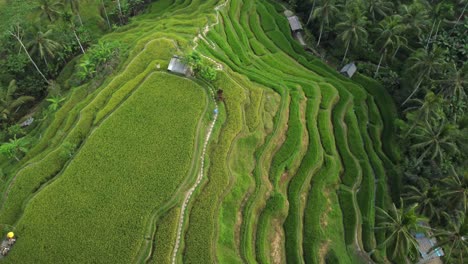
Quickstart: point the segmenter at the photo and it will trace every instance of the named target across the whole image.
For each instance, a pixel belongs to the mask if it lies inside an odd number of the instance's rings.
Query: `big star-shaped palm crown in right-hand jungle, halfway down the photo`
[[[411,139],[413,144],[411,149],[420,150],[417,164],[427,156],[432,160],[442,161],[445,153],[458,153],[456,144],[456,127],[448,124],[445,119],[438,124],[431,124],[428,121],[422,122],[413,130]]]

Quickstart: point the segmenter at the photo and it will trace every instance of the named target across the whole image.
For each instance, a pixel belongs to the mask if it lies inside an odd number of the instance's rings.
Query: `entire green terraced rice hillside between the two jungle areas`
[[[159,0],[105,36],[128,59],[96,90],[74,89],[4,190],[0,222],[19,236],[5,261],[384,261],[391,99],[306,53],[283,11]],[[194,47],[222,65],[213,84],[161,72]],[[79,146],[71,159],[64,143]]]

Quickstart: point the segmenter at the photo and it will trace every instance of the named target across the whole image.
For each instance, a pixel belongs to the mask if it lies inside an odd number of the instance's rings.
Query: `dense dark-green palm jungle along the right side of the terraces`
[[[307,21],[316,52],[330,63],[355,61],[392,94],[400,112],[399,144],[407,146],[401,148],[402,178],[393,197],[402,195],[408,207],[416,204],[411,210],[438,230],[434,234],[449,252],[446,261],[462,263],[468,252],[468,2],[288,2]],[[459,231],[450,238],[458,239],[456,246],[442,242],[446,228]],[[411,246],[407,236],[405,246],[392,246],[402,256]]]

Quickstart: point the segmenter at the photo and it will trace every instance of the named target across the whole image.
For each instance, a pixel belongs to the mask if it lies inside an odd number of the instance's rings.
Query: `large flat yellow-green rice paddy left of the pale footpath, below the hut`
[[[195,83],[151,75],[27,205],[8,261],[130,262],[149,212],[187,176],[205,104]]]

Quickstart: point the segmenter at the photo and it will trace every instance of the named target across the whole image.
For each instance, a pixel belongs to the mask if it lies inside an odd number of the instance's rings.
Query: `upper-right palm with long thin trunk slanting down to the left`
[[[406,104],[411,97],[419,90],[422,82],[427,79],[430,80],[434,72],[440,71],[446,64],[443,56],[444,50],[434,46],[432,50],[418,49],[408,59],[408,74],[416,76],[416,87],[411,94],[406,98],[402,105]]]

